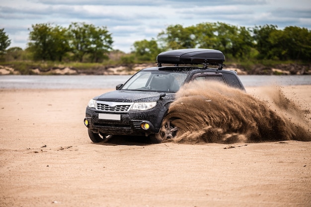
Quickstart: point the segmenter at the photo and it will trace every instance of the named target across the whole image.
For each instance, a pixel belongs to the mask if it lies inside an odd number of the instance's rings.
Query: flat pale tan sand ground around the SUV
[[[311,85],[283,89],[310,109]],[[0,207],[311,206],[310,141],[94,144],[84,111],[102,92],[0,90]]]

